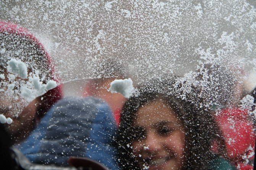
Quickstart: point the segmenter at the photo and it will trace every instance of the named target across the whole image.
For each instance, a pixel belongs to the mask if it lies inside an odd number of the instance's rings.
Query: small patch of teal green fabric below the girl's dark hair
[[[224,158],[217,157],[211,162],[209,170],[236,170],[236,168]]]

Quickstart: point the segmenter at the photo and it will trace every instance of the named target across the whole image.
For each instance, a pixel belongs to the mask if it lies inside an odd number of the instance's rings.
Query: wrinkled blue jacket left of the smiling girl
[[[67,165],[68,157],[81,156],[118,169],[112,145],[115,130],[104,101],[70,97],[55,104],[18,149],[37,164]]]

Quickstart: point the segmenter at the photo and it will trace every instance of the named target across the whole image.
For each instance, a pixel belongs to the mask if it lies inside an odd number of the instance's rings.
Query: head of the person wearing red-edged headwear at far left
[[[11,72],[8,69],[10,61],[18,64],[18,71]],[[20,76],[20,73],[26,73],[26,76]],[[49,80],[59,82],[49,54],[37,38],[23,27],[0,21],[0,114],[14,118],[13,123],[8,126],[10,133],[21,138],[24,138],[23,133],[32,130],[35,119],[40,119],[62,98],[61,85],[39,97],[31,94],[34,84],[31,77],[38,77],[39,85],[46,84]],[[31,93],[23,95],[26,90]],[[37,98],[30,102],[34,97]]]

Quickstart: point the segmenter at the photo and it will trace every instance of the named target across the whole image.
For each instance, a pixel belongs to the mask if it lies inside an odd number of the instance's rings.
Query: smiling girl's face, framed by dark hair
[[[182,169],[185,132],[167,104],[158,99],[140,107],[133,125],[138,135],[132,150],[141,169]]]

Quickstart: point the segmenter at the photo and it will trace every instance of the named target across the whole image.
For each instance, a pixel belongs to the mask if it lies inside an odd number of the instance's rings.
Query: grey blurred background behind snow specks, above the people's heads
[[[243,72],[256,85],[254,0],[4,0],[1,20],[28,28],[45,45],[66,95],[81,95],[99,67],[117,61],[136,84],[193,76],[204,64]],[[79,80],[79,81],[74,81]]]

